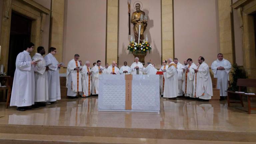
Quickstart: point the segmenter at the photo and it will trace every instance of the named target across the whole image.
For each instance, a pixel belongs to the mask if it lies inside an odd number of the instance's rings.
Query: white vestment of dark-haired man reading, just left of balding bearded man
[[[193,97],[193,90],[194,90],[193,82],[194,82],[194,76],[195,76],[194,69],[197,69],[197,66],[194,63],[192,63],[191,66],[189,65],[186,65],[186,66],[188,67],[189,72],[187,72],[186,70],[183,74],[182,90],[184,91],[185,96],[194,98]],[[186,76],[187,76],[187,80],[186,80]]]

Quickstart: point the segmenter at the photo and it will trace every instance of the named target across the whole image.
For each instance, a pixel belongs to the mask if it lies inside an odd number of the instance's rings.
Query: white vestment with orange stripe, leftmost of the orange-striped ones
[[[77,63],[77,65],[76,65]],[[82,91],[82,82],[81,82],[81,70],[74,70],[76,67],[81,67],[80,63],[72,59],[68,62],[67,67],[67,81],[66,87],[68,88],[67,96],[76,96],[77,92]],[[77,83],[78,82],[78,83]]]

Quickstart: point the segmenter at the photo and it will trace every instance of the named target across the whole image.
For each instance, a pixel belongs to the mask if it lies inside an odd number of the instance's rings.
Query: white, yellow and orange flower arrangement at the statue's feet
[[[139,44],[135,41],[131,41],[127,47],[127,50],[129,50],[130,53],[138,53],[138,51],[141,51],[141,53],[146,53],[147,51],[149,51],[150,53],[151,49],[151,45],[148,41],[144,41]]]

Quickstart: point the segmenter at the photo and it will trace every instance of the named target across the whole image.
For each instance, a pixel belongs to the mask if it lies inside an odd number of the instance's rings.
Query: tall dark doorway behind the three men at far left
[[[17,55],[30,42],[32,20],[12,12],[7,75],[13,77]]]

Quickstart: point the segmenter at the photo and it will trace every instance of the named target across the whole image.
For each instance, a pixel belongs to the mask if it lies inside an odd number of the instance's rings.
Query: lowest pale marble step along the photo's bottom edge
[[[0,133],[1,144],[255,144],[253,142]]]

